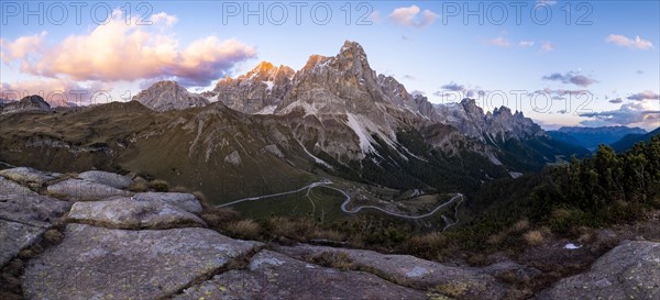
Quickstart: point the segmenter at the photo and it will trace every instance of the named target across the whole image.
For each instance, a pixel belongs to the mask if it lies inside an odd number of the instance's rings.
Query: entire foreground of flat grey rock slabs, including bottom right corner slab
[[[241,241],[208,229],[191,193],[133,179],[0,171],[0,299],[510,299],[541,271]],[[660,244],[624,242],[538,299],[660,299]]]

